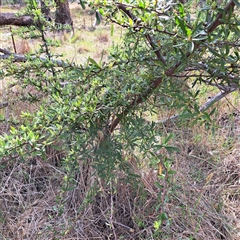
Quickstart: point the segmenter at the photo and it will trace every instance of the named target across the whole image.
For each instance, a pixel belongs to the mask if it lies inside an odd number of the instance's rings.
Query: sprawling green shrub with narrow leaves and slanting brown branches
[[[26,12],[36,25],[21,29],[21,34],[40,38],[42,45],[35,57],[29,55],[17,66],[10,59],[4,74],[40,92],[41,97],[29,94],[28,100],[41,106],[34,114],[22,112],[19,125],[1,136],[0,157],[46,159],[46,147],[60,142],[63,192],[74,189],[82,171],[79,162],[93,168],[90,177],[106,182],[120,170],[132,174],[125,157],[131,153],[155,168],[160,163],[159,178],[166,184],[156,183],[165,192],[159,194],[160,213],[153,225],[158,232],[163,223],[170,224],[164,203],[171,197],[171,155],[178,149],[170,144],[172,135],[147,122],[144,113],[174,109],[182,120],[211,124],[214,110],[200,110],[194,86],[239,84],[239,19],[233,2],[227,9],[206,4],[196,15],[182,4],[121,2],[90,2],[98,9],[98,21],[101,13],[127,30],[107,63],[88,58],[82,65],[56,61],[51,51],[56,43],[46,37],[53,26],[35,1],[27,3]],[[86,3],[80,3],[84,8]]]

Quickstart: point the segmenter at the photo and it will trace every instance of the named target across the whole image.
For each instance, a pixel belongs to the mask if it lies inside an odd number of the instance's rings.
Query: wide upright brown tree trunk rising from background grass
[[[70,25],[73,28],[73,21],[69,9],[68,0],[55,0],[55,2],[57,5],[55,23]]]

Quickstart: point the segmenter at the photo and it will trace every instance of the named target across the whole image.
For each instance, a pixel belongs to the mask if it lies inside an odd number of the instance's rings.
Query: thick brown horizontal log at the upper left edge
[[[30,16],[16,16],[14,13],[0,12],[0,26],[15,25],[15,26],[31,26],[34,24],[33,18]]]

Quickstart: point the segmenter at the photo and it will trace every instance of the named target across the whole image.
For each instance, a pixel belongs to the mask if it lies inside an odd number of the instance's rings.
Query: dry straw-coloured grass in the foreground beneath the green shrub
[[[162,208],[170,224],[163,223],[161,238],[156,239],[238,240],[239,143],[215,158],[206,139],[194,141],[196,132],[174,131],[181,132],[177,140],[184,142],[174,157],[171,198]],[[187,142],[193,142],[191,154]],[[48,151],[48,161],[35,157],[2,164],[2,239],[152,239],[161,196],[155,182],[164,184],[153,169],[140,168],[131,158],[133,172],[141,176],[138,184],[119,172],[110,185],[96,179],[100,188],[91,197],[81,172],[73,190],[61,191],[64,172],[53,160],[57,156],[59,152]]]

